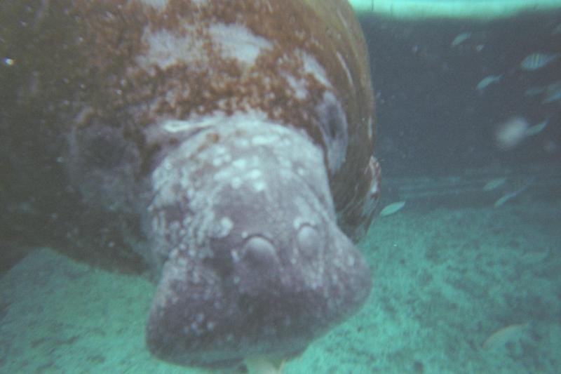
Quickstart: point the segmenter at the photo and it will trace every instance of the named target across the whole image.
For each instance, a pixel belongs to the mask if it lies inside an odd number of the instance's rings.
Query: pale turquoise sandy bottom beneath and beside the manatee
[[[366,305],[285,373],[561,373],[561,201],[407,204],[359,244]],[[2,373],[199,373],[151,358],[154,286],[48,248],[0,279]]]

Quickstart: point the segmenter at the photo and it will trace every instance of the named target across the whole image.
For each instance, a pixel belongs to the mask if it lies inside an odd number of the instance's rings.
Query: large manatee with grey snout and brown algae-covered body
[[[186,366],[297,355],[362,305],[379,166],[346,1],[14,0],[0,24],[4,241],[149,271],[147,346]]]

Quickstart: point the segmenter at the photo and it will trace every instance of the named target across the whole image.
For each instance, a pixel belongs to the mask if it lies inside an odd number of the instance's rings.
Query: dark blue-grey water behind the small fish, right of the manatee
[[[376,153],[384,176],[450,175],[465,168],[560,168],[561,102],[541,104],[527,88],[561,79],[561,59],[535,71],[520,61],[561,52],[561,10],[506,20],[360,19],[377,95]],[[471,32],[458,46],[454,38]],[[480,94],[490,74],[501,81]],[[508,151],[496,148],[496,126],[513,116],[530,125],[551,116],[536,136]]]

